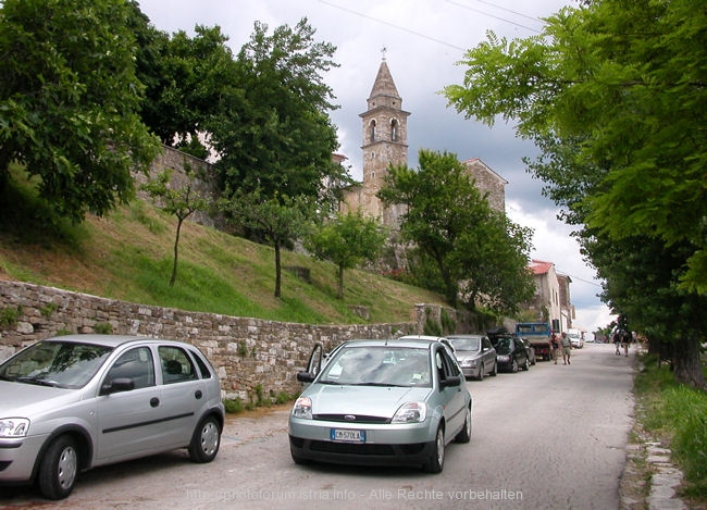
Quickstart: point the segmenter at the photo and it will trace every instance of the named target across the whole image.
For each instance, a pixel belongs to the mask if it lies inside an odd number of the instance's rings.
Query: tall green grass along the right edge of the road
[[[707,394],[677,383],[669,366],[658,368],[653,356],[643,362],[645,370],[634,382],[637,419],[646,432],[670,445],[685,475],[682,495],[706,505]]]

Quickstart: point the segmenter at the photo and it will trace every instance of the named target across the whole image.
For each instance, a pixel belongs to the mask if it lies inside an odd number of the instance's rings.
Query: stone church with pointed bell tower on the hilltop
[[[402,98],[395,86],[385,57],[368,98],[368,109],[359,115],[362,124],[363,182],[350,187],[340,204],[342,212],[360,210],[377,217],[384,225],[396,228],[405,212],[402,206],[383,207],[376,194],[390,164],[408,164],[408,117],[402,110]],[[434,148],[432,148],[434,150]],[[506,210],[508,182],[491,170],[479,158],[462,162],[482,196],[497,211]]]

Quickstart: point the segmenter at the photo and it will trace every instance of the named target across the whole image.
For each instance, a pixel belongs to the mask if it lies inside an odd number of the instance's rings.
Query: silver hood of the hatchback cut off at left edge
[[[27,383],[0,381],[0,418],[28,418],[79,398],[80,389],[52,388]]]

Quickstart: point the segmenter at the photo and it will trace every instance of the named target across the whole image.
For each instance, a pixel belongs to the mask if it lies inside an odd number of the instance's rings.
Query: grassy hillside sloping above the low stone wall
[[[15,174],[17,175],[17,174]],[[365,306],[371,322],[405,322],[418,302],[441,297],[369,272],[345,274],[336,299],[335,266],[283,252],[284,266],[310,271],[310,282],[283,271],[274,297],[272,248],[185,222],[172,272],[176,219],[139,200],[80,225],[42,223],[44,206],[27,183],[0,194],[0,278],[184,310],[313,324],[361,323],[348,306]]]

